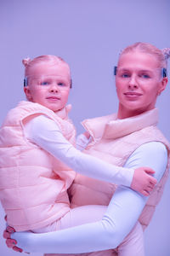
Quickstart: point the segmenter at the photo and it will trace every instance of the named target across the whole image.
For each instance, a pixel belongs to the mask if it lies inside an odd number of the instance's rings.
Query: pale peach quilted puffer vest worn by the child
[[[51,224],[70,209],[67,189],[75,172],[24,137],[23,121],[39,114],[53,119],[75,143],[65,109],[56,114],[40,104],[20,102],[8,112],[0,130],[0,200],[8,224],[18,231]]]

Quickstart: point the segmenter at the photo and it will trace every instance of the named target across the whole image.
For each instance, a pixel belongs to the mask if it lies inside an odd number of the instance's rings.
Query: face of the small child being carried
[[[29,101],[37,102],[54,112],[65,107],[71,85],[68,67],[39,63],[32,67],[27,79],[25,93]]]

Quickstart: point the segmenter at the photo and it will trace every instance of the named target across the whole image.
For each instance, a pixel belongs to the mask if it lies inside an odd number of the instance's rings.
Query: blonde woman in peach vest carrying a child
[[[112,184],[94,180],[89,183],[88,179],[77,176],[71,189],[72,204],[105,205],[111,200],[102,221],[95,223],[91,230],[89,224],[84,225],[82,233],[79,232],[79,227],[41,235],[26,233],[20,236],[16,233],[13,238],[19,241],[19,247],[31,252],[46,253],[105,250],[117,247],[138,219],[143,227],[149,224],[156,204],[160,201],[169,166],[169,144],[156,127],[155,108],[157,96],[167,85],[166,58],[167,55],[150,44],[137,43],[124,49],[116,68],[116,90],[119,98],[117,114],[83,122],[93,138],[87,147],[88,154],[99,156],[117,166],[149,166],[156,171],[154,177],[158,184],[149,200],[132,189],[123,186],[116,189]],[[84,191],[77,189],[80,179]],[[80,204],[79,194],[83,198],[83,192],[86,193],[87,200]],[[102,232],[101,225],[104,227]],[[105,233],[105,225],[109,225],[111,233]],[[113,230],[115,235],[111,237]],[[94,236],[97,239],[95,243]],[[28,237],[28,244],[25,245]]]

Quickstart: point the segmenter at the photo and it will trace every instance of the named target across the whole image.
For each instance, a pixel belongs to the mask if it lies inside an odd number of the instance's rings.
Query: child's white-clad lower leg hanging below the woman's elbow
[[[125,237],[118,246],[119,256],[144,256],[144,231],[137,222],[133,230]]]

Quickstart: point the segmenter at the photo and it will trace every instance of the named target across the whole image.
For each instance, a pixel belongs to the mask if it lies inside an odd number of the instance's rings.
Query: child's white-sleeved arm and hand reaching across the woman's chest
[[[44,115],[31,119],[25,129],[26,136],[33,143],[37,143],[55,158],[83,175],[132,187],[143,195],[149,195],[156,184],[156,179],[147,174],[154,173],[148,167],[139,168],[134,172],[131,168],[113,166],[94,156],[83,154],[65,139],[56,123]]]

